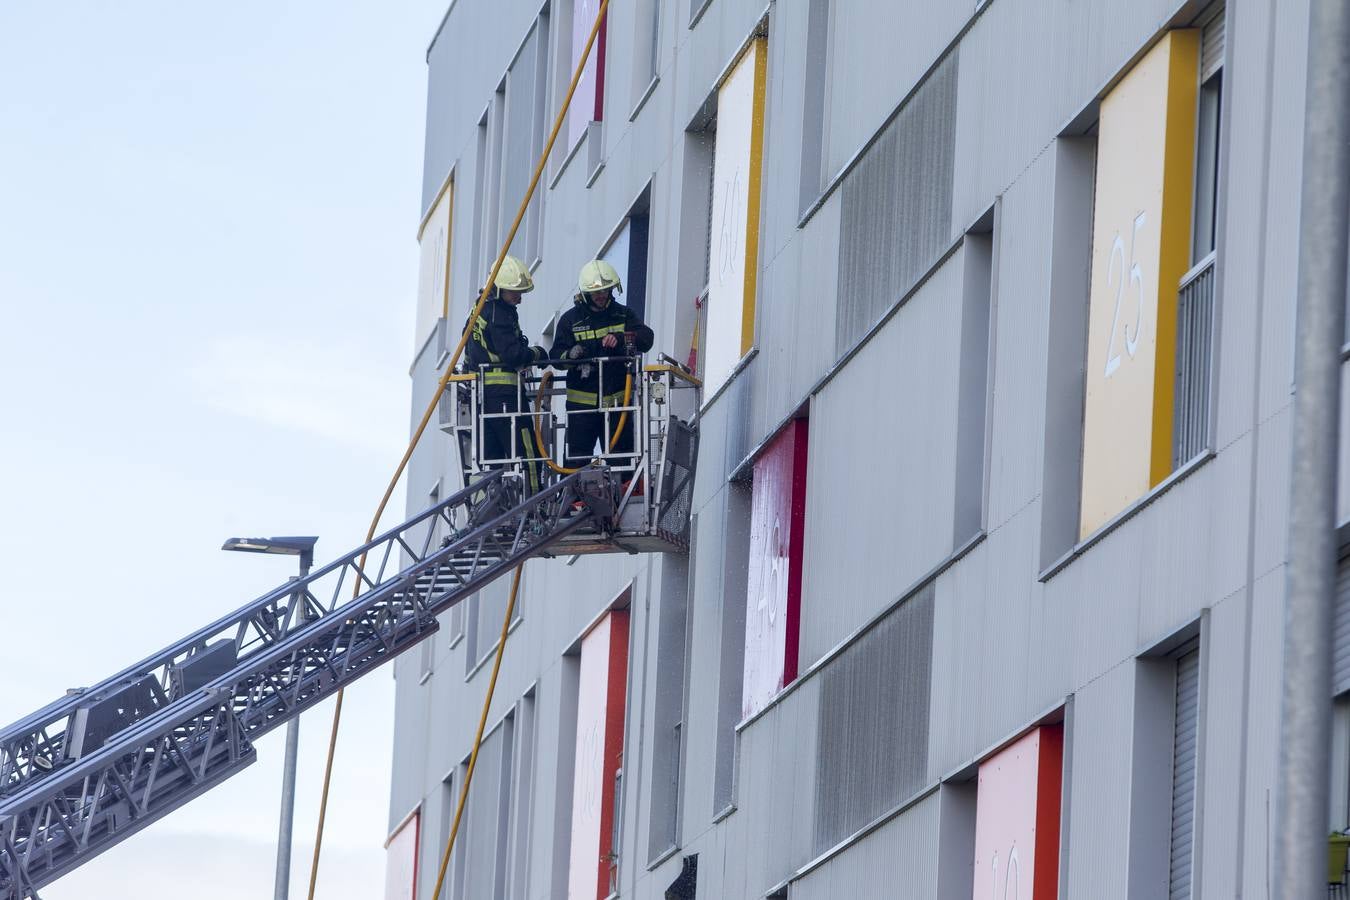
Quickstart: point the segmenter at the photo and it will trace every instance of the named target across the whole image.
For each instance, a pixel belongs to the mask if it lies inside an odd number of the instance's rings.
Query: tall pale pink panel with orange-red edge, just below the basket
[[[609,896],[614,775],[624,753],[628,688],[628,611],[605,615],[582,638],[572,781],[572,850],[568,900]]]

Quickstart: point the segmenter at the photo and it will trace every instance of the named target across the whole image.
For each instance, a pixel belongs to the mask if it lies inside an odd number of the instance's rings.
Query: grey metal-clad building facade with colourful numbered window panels
[[[454,0],[431,43],[417,414],[597,8]],[[1265,891],[1307,31],[614,0],[510,252],[532,339],[603,256],[703,378],[691,549],[525,565],[441,896]],[[424,439],[409,510],[458,471]],[[396,664],[392,897],[431,897],[506,590]]]

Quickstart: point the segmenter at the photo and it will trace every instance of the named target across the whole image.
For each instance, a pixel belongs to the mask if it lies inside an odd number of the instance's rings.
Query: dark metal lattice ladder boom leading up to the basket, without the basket
[[[0,900],[36,896],[243,769],[261,734],[436,631],[439,614],[516,564],[578,529],[612,529],[616,482],[589,467],[522,498],[521,479],[487,472],[309,578],[5,729]],[[354,583],[356,598],[343,602]]]

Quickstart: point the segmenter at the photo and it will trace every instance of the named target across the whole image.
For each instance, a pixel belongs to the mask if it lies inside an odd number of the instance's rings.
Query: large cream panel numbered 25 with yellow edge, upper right
[[[1172,468],[1177,285],[1189,259],[1200,32],[1172,31],[1102,100],[1080,537]]]

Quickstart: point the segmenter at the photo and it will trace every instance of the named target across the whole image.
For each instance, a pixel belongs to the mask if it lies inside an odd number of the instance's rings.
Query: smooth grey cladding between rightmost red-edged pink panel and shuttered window
[[[1073,698],[1066,735],[1069,766],[1069,900],[1126,900],[1130,824],[1130,748],[1134,731],[1134,661],[1083,685]]]

